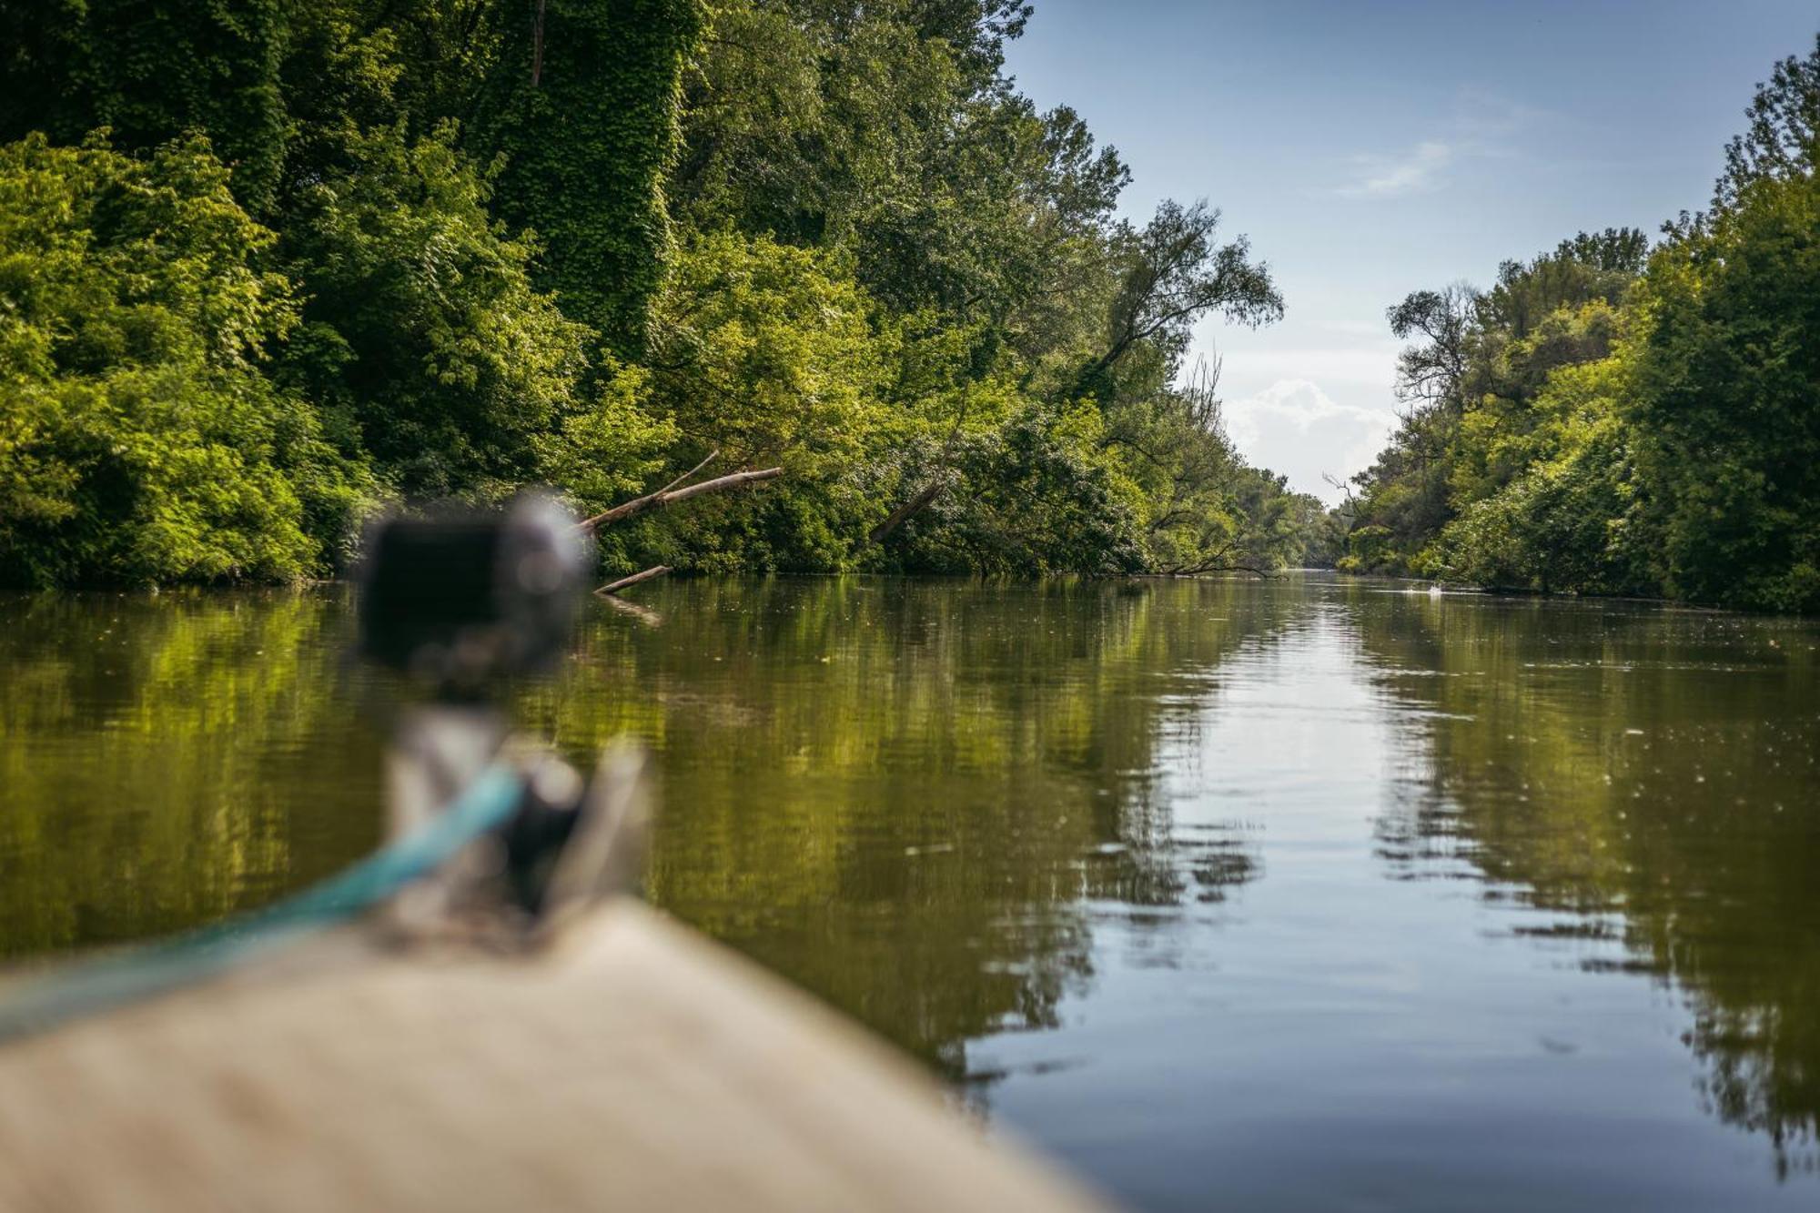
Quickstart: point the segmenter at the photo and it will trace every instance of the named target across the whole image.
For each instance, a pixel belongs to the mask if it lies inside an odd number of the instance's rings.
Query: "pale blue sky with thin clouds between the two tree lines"
[[[1394,424],[1383,310],[1580,229],[1700,208],[1815,0],[1036,0],[1008,71],[1119,149],[1132,219],[1205,197],[1289,315],[1208,321],[1245,454],[1336,499]]]

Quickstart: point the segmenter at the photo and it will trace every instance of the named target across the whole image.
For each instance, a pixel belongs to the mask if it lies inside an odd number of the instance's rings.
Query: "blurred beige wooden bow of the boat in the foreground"
[[[630,898],[530,954],[379,938],[0,1047],[0,1208],[1099,1208]]]

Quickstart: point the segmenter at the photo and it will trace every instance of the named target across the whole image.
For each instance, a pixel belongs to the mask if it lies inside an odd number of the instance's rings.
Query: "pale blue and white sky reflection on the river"
[[[1815,1177],[1798,1173],[1811,1151],[1793,1142],[1796,1175],[1778,1186],[1764,1142],[1711,1118],[1711,1096],[1700,1098],[1711,1076],[1684,1044],[1693,1016],[1649,980],[1647,953],[1623,947],[1622,914],[1563,914],[1520,885],[1487,885],[1472,840],[1447,836],[1460,823],[1432,805],[1434,729],[1471,729],[1476,714],[1436,710],[1432,688],[1403,696],[1394,685],[1489,672],[1387,676],[1385,654],[1360,650],[1360,627],[1394,634],[1420,619],[1361,617],[1360,596],[1345,597],[1350,606],[1310,603],[1301,627],[1228,657],[1199,727],[1159,747],[1176,831],[1243,821],[1263,878],[1219,914],[1188,905],[1158,920],[1096,903],[1096,980],[1059,1007],[1065,1027],[972,1049],[994,1078],[994,1111],[1150,1208],[1813,1208]],[[1467,643],[1454,656],[1483,667],[1491,654]],[[1791,721],[1802,763],[1813,690],[1805,723]],[[1502,727],[1492,716],[1481,723]],[[1607,749],[1634,747],[1636,730],[1618,736]],[[1489,774],[1465,780],[1509,805],[1574,792],[1542,787],[1543,772],[1511,752],[1483,761]],[[1387,841],[1423,803],[1429,836]],[[1795,911],[1815,940],[1815,905]],[[1754,940],[1731,942],[1736,965],[1765,960],[1749,951]],[[1820,1013],[1820,991],[1809,998],[1780,1013]],[[1811,1126],[1816,1107],[1791,1111]]]

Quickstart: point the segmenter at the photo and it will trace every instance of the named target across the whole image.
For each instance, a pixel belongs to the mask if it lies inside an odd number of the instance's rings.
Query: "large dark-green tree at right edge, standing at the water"
[[[1676,596],[1820,610],[1820,178],[1744,184],[1651,259],[1629,415]]]

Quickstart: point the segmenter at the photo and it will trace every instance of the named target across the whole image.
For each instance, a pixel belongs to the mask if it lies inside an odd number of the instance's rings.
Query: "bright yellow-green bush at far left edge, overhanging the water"
[[[0,148],[0,579],[324,566],[366,479],[266,373],[271,244],[200,138]]]

